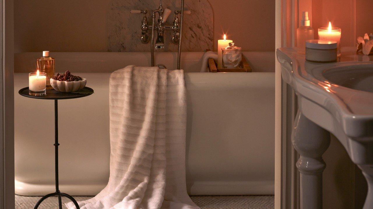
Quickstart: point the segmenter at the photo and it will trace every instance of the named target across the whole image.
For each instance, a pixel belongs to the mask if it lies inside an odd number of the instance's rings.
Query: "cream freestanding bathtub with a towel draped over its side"
[[[18,95],[40,52],[15,54],[15,193],[54,191],[54,102]],[[53,52],[56,72],[88,79],[91,96],[59,101],[60,190],[95,195],[109,178],[109,76],[150,66],[147,52]],[[274,194],[275,52],[244,52],[252,73],[198,73],[203,52],[183,52],[190,195]],[[156,53],[176,68],[177,53]]]

